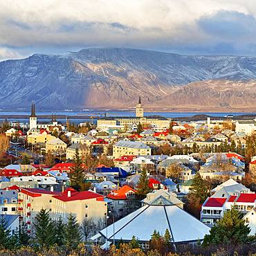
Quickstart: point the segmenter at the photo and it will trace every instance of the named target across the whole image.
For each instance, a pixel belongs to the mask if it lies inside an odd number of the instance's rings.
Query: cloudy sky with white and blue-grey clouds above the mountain
[[[89,47],[256,56],[256,1],[0,0],[0,60]]]

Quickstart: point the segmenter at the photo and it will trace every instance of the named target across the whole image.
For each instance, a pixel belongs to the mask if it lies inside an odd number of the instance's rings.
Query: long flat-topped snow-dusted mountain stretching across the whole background
[[[256,109],[254,80],[256,57],[88,48],[0,62],[0,108]]]

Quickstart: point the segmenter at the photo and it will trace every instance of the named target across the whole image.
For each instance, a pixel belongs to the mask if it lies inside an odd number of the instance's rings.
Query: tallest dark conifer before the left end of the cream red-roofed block
[[[35,216],[35,241],[39,246],[52,246],[55,243],[55,225],[47,210],[41,209]]]

